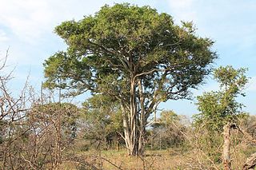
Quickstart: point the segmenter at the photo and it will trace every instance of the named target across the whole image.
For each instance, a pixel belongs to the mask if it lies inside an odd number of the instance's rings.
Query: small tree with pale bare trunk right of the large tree
[[[194,116],[195,125],[204,125],[210,136],[206,136],[207,146],[214,148],[222,144],[222,139],[212,136],[223,134],[222,160],[224,169],[231,169],[230,160],[230,129],[238,128],[238,119],[246,116],[242,112],[242,104],[236,101],[239,95],[245,96],[245,88],[248,78],[246,69],[234,69],[228,65],[214,70],[214,79],[220,84],[219,91],[204,93],[198,97],[198,110],[201,112]],[[214,147],[213,147],[214,146]],[[219,148],[219,147],[218,147]],[[219,155],[219,152],[209,152],[211,155]],[[219,157],[219,156],[218,156]],[[219,159],[218,159],[219,160]]]

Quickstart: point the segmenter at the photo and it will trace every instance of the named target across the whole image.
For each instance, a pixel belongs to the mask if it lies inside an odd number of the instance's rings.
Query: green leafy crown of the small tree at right
[[[206,125],[206,128],[222,132],[227,122],[237,122],[239,117],[246,116],[242,112],[242,104],[236,101],[239,95],[245,96],[248,78],[246,69],[234,69],[228,65],[214,70],[214,79],[220,84],[217,92],[203,93],[198,97],[199,114],[194,116],[196,125]]]

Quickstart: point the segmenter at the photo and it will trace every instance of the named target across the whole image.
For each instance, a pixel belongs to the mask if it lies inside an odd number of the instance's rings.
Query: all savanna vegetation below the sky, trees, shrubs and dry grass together
[[[12,93],[2,61],[0,167],[254,169],[256,117],[237,100],[246,69],[214,69],[214,42],[195,30],[150,6],[103,6],[56,27],[67,49],[43,63],[39,93]],[[219,89],[197,97],[192,118],[158,109],[192,99],[209,75]],[[81,105],[66,100],[88,91]]]

